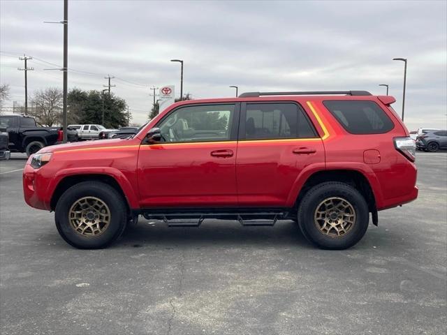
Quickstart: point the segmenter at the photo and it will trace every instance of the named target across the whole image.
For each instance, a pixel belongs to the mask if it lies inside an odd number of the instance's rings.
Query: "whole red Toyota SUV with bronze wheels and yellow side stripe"
[[[138,216],[168,225],[296,221],[316,246],[349,248],[369,213],[416,199],[416,147],[391,96],[367,91],[245,93],[182,101],[136,135],[45,147],[24,198],[55,211],[78,248],[102,248]]]

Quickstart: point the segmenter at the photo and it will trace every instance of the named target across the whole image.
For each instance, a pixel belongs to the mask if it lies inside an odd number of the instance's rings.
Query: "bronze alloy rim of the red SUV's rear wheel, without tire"
[[[344,237],[356,223],[356,211],[345,199],[327,198],[316,207],[314,221],[328,237]]]

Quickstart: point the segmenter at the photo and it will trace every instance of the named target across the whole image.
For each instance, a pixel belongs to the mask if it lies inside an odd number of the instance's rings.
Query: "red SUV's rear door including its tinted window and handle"
[[[295,102],[242,103],[237,144],[240,207],[288,207],[300,172],[324,163],[323,142]]]

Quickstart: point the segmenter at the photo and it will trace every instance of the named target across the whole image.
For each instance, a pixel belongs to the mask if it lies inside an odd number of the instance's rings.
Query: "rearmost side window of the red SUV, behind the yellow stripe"
[[[383,134],[394,128],[374,101],[334,100],[323,101],[323,105],[351,134]]]

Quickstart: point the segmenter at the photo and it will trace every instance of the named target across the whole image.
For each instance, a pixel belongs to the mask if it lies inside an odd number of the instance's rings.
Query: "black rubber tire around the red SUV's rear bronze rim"
[[[315,213],[319,204],[330,198],[341,198],[352,205],[356,214],[352,228],[343,236],[331,237],[318,229]],[[298,223],[302,234],[323,249],[342,250],[355,245],[367,231],[369,210],[365,198],[352,186],[338,181],[327,181],[311,188],[298,208]]]

